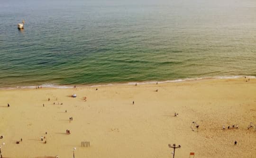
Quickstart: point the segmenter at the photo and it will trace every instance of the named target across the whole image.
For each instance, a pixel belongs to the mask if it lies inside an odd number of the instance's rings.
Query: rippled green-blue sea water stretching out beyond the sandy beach
[[[0,87],[232,76],[256,76],[256,0],[0,0]]]

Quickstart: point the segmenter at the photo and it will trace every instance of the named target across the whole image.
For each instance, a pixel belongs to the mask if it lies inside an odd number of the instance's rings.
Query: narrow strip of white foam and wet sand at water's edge
[[[248,79],[255,79],[256,76],[246,76]],[[113,83],[102,83],[102,84],[73,84],[73,85],[58,85],[58,84],[41,84],[41,85],[31,85],[31,86],[10,86],[10,87],[0,87],[0,90],[9,90],[9,89],[33,89],[42,87],[42,88],[59,88],[59,89],[69,89],[73,88],[75,85],[79,88],[91,88],[91,87],[105,87],[105,86],[120,86],[120,85],[147,85],[147,84],[163,84],[163,83],[177,83],[177,82],[187,82],[187,81],[203,81],[209,79],[242,79],[245,76],[216,76],[216,77],[199,77],[199,78],[186,78],[186,79],[173,79],[173,80],[162,80],[162,81],[131,81],[131,82],[113,82]]]

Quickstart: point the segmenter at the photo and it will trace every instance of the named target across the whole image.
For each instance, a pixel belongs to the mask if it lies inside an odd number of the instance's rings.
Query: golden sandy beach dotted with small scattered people
[[[172,158],[174,143],[181,145],[175,158],[256,158],[250,122],[256,124],[256,79],[0,90],[0,143],[8,158],[72,158],[74,147],[75,158]],[[239,128],[227,129],[233,124]],[[84,140],[91,146],[81,147]]]

